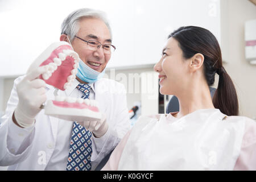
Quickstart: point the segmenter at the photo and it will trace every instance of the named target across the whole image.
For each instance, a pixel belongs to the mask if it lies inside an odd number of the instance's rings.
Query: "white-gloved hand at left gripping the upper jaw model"
[[[34,125],[35,117],[41,110],[40,106],[46,102],[46,82],[38,78],[45,72],[45,67],[39,67],[27,73],[17,85],[19,102],[14,111],[14,117],[19,126]]]

